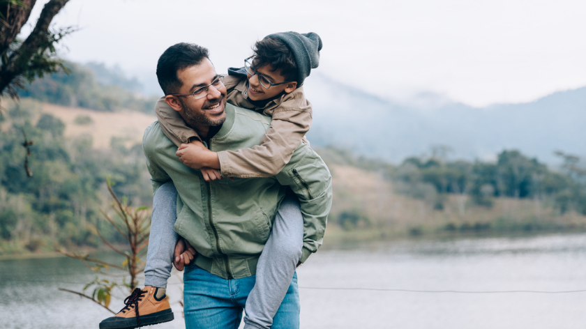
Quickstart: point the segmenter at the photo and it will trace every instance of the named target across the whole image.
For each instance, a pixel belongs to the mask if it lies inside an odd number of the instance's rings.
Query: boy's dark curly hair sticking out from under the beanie
[[[262,68],[268,64],[273,68],[273,72],[281,70],[280,74],[285,77],[285,81],[297,80],[295,57],[282,40],[266,37],[257,41],[253,50],[255,52],[253,68]]]

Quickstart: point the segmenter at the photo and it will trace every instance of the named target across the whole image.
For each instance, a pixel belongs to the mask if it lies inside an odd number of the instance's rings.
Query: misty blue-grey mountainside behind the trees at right
[[[352,148],[363,155],[400,162],[453,148],[454,158],[495,158],[516,148],[546,162],[556,150],[586,155],[586,87],[534,102],[474,108],[443,102],[433,109],[383,100],[315,75],[306,82],[313,103],[312,145]]]

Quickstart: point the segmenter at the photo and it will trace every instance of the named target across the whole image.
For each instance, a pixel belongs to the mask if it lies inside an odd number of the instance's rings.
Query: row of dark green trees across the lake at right
[[[393,172],[401,190],[416,198],[432,198],[441,210],[448,194],[465,194],[478,206],[493,206],[497,197],[550,201],[560,213],[586,215],[586,173],[580,160],[564,159],[559,171],[519,151],[502,151],[496,162],[446,161],[442,158],[407,158]]]

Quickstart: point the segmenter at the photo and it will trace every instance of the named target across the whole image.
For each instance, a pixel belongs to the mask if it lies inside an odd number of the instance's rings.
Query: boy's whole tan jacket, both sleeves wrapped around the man
[[[257,109],[248,102],[247,79],[227,75],[224,84],[228,90],[227,102],[254,109],[271,116],[273,120],[260,145],[235,151],[219,151],[220,172],[223,176],[236,178],[275,176],[289,162],[301,141],[309,144],[305,135],[311,128],[312,107],[303,95],[303,87]],[[197,132],[186,125],[179,113],[165,102],[164,97],[158,100],[155,111],[161,130],[176,146],[188,143],[191,138],[201,141]]]

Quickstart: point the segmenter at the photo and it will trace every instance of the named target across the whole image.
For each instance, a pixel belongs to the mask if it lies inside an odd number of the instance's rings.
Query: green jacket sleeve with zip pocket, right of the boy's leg
[[[291,161],[276,176],[299,198],[303,215],[301,262],[322,245],[332,203],[331,174],[328,167],[307,144],[296,149]]]

